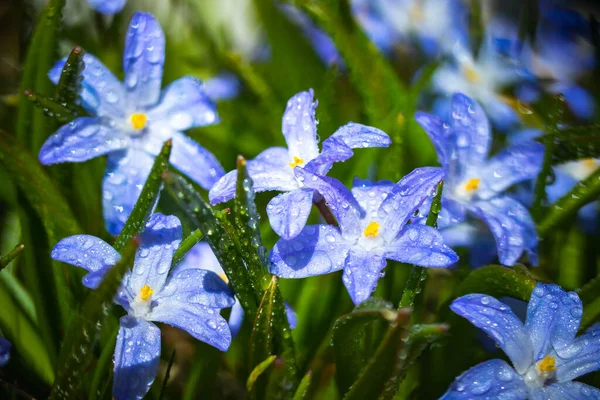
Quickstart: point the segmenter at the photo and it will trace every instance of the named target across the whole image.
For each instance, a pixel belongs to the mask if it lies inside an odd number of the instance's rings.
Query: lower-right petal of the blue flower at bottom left
[[[231,331],[219,310],[200,304],[164,302],[154,307],[148,316],[152,321],[163,322],[183,329],[193,337],[226,351],[231,344]]]

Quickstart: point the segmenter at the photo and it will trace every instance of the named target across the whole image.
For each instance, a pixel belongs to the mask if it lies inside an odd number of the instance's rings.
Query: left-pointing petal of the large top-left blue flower
[[[130,141],[121,131],[97,118],[82,117],[63,125],[40,149],[43,165],[81,162],[122,150]]]

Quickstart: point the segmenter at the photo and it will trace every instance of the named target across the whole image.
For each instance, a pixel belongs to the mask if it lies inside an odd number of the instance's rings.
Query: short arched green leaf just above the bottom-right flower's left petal
[[[518,267],[487,265],[473,270],[458,288],[458,296],[484,293],[494,297],[514,297],[528,301],[536,281]]]

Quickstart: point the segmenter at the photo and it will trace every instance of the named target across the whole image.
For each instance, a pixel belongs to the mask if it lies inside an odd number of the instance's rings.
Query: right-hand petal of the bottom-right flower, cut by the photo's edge
[[[579,311],[575,311],[577,313]],[[600,369],[600,324],[558,350],[556,379],[567,382]]]

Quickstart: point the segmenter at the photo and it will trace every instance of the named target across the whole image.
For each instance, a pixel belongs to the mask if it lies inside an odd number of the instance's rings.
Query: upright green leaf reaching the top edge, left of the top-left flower
[[[58,39],[64,5],[65,0],[50,0],[42,11],[29,44],[19,93],[33,88],[39,93],[53,92],[54,85],[47,74],[58,58]],[[17,116],[17,137],[27,148],[37,152],[51,133],[50,129],[43,112],[36,110],[26,97],[22,97]]]

